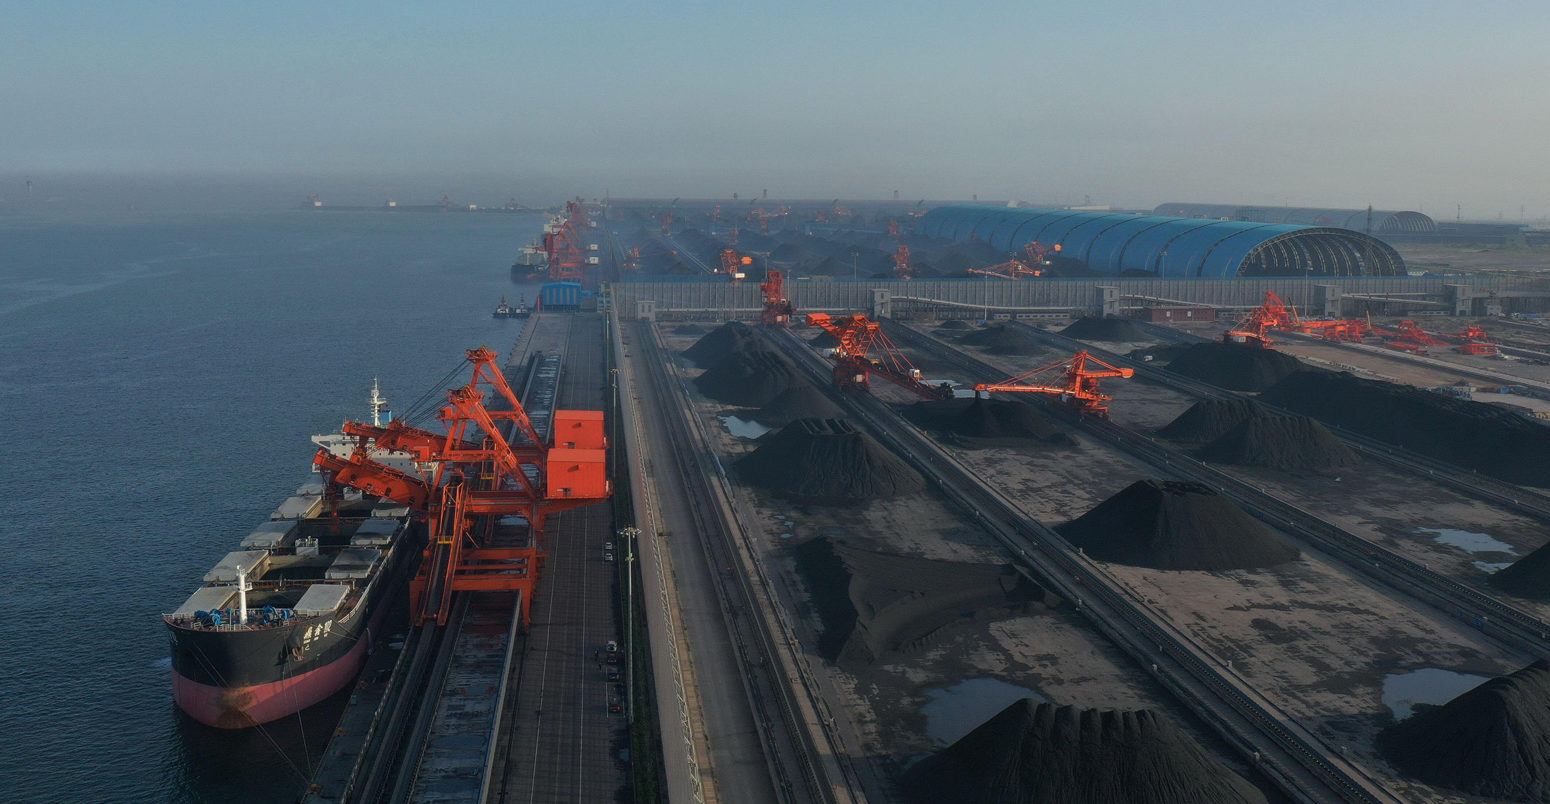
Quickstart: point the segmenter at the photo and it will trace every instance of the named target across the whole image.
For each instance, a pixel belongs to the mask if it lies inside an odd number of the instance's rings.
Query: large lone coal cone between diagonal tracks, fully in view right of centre
[[[1099,561],[1155,570],[1256,570],[1300,553],[1203,483],[1138,480],[1057,527]]]

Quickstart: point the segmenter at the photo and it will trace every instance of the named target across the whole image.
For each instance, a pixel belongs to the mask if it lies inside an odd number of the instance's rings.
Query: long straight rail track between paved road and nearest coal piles
[[[705,561],[710,567],[719,569],[747,565],[738,555],[736,536],[732,530],[739,530],[736,514],[725,505],[725,496],[719,496],[711,483],[722,479],[719,466],[708,466],[710,455],[704,432],[696,432],[698,417],[693,415],[693,401],[688,392],[676,381],[671,372],[663,345],[656,327],[640,324],[634,342],[643,349],[653,367],[651,386],[659,400],[668,403],[670,409],[684,411],[687,415],[663,417],[670,452],[674,471],[682,480],[682,488],[691,496],[690,511],[696,522]],[[744,688],[749,702],[761,723],[760,740],[764,745],[766,762],[775,781],[781,801],[863,801],[857,795],[848,778],[834,779],[818,761],[820,747],[806,727],[803,702],[798,694],[812,696],[811,689],[794,689],[789,672],[783,672],[781,652],[786,644],[794,644],[789,634],[772,632],[770,624],[761,612],[772,607],[767,593],[769,579],[763,576],[761,567],[753,572],[711,572],[716,596],[721,604],[722,620],[736,644],[738,663],[742,669]],[[763,584],[763,592],[755,584]],[[778,626],[777,626],[778,627]],[[800,675],[800,674],[798,674]],[[803,683],[801,677],[795,683]],[[834,753],[825,747],[826,753]]]

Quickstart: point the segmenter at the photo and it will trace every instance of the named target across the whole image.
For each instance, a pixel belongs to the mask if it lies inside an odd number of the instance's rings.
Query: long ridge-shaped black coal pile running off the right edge
[[[1263,398],[1497,480],[1550,488],[1550,428],[1494,404],[1333,372],[1294,373]]]

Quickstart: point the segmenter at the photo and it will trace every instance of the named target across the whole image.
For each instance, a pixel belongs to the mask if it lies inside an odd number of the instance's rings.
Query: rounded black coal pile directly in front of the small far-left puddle
[[[848,421],[798,418],[760,438],[738,474],[797,502],[846,505],[911,494],[925,480],[908,463]]]

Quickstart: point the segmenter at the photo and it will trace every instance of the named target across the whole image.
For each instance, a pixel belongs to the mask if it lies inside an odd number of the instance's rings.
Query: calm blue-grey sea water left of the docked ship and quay
[[[160,620],[491,319],[536,215],[0,215],[0,799],[294,801],[339,700],[228,733],[172,705]]]

